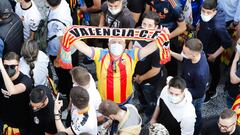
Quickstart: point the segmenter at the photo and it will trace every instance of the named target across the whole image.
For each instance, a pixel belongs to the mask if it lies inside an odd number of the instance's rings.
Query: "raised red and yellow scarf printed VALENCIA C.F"
[[[64,69],[72,68],[71,50],[76,40],[87,38],[124,38],[126,40],[156,40],[160,51],[160,64],[170,61],[169,32],[166,28],[157,30],[131,29],[131,28],[106,28],[74,25],[68,29],[63,38],[62,45],[55,60],[55,65]]]

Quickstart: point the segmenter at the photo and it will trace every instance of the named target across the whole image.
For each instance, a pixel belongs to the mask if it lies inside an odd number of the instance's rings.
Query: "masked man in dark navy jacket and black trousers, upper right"
[[[205,0],[203,2],[197,37],[203,43],[203,51],[207,55],[212,75],[211,84],[205,98],[205,102],[208,102],[211,98],[217,96],[216,87],[221,74],[221,53],[232,45],[231,36],[226,28],[225,14],[222,10],[217,9],[216,0]]]

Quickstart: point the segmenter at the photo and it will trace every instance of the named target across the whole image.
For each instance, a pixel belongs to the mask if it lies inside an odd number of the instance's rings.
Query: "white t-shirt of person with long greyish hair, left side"
[[[37,85],[47,85],[47,76],[48,76],[48,56],[43,53],[42,51],[38,52],[37,60],[34,62],[35,67],[33,69],[33,79],[34,79],[34,86]],[[30,66],[27,64],[25,59],[21,57],[19,63],[20,71],[29,76]]]

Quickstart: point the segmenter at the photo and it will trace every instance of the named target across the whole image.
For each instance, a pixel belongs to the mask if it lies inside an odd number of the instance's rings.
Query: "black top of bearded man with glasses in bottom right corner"
[[[218,118],[207,120],[202,127],[201,135],[229,135],[220,132],[217,124]],[[235,132],[231,135],[240,135],[239,126],[237,126]]]

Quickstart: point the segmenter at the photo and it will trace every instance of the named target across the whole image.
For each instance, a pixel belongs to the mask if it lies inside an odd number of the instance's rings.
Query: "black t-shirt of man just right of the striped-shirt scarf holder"
[[[146,41],[135,41],[138,42],[142,47],[146,46],[148,42]],[[160,57],[159,57],[159,50],[154,51],[152,54],[148,55],[147,57],[143,58],[142,60],[138,61],[135,67],[135,74],[143,75],[148,72],[152,67],[161,68],[163,65],[160,64]],[[142,84],[150,83],[154,86],[159,84],[159,80],[161,78],[161,72],[155,75],[152,78],[149,78],[142,82]]]

